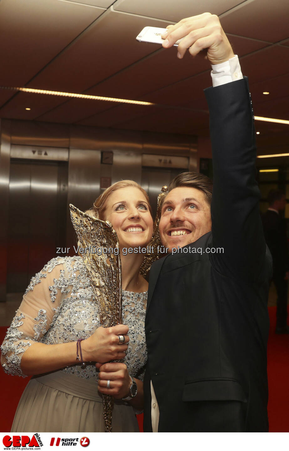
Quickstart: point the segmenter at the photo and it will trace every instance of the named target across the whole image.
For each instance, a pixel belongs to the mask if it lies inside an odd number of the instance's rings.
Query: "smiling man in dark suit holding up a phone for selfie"
[[[159,229],[170,253],[151,267],[144,430],[267,431],[271,256],[248,81],[217,16],[184,19],[163,37],[166,47],[183,38],[179,58],[207,49],[214,187],[184,173],[163,199]]]

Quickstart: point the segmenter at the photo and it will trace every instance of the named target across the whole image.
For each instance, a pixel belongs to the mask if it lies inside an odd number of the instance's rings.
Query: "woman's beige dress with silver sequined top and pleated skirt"
[[[123,360],[143,380],[147,360],[144,321],[147,292],[123,290],[123,322],[129,327]],[[53,258],[32,277],[1,346],[6,373],[23,376],[21,357],[39,341],[47,345],[87,338],[100,326],[97,301],[81,257]],[[76,345],[75,345],[76,352]],[[12,432],[104,432],[95,366],[68,366],[35,375],[19,401]],[[133,408],[116,401],[112,432],[138,432]]]

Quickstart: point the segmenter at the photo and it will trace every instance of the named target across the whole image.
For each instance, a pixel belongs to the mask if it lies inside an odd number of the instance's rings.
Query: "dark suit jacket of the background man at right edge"
[[[273,259],[273,272],[285,275],[289,270],[285,220],[278,213],[267,210],[262,216],[262,222],[265,240]]]

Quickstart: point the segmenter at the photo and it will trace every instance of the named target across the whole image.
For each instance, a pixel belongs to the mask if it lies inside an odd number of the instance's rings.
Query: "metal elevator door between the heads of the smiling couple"
[[[142,188],[150,198],[153,218],[156,217],[157,197],[162,187],[168,186],[176,175],[186,171],[187,169],[142,168]]]

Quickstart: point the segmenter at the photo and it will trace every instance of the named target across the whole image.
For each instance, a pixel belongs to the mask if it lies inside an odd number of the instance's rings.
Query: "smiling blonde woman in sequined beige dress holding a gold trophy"
[[[81,256],[53,258],[32,277],[1,346],[5,372],[33,375],[19,401],[12,432],[104,432],[100,393],[115,397],[112,432],[138,431],[135,412],[143,404],[147,281],[139,274],[143,254],[124,255],[122,249],[149,243],[151,207],[147,193],[124,180],[106,189],[89,213],[110,221],[119,238],[123,324],[101,327]],[[119,335],[124,335],[124,344],[119,344]],[[80,344],[83,362],[88,362],[85,368],[77,359],[79,338],[84,339]],[[114,359],[122,363],[106,363]],[[123,400],[132,395],[132,382],[137,395]]]

